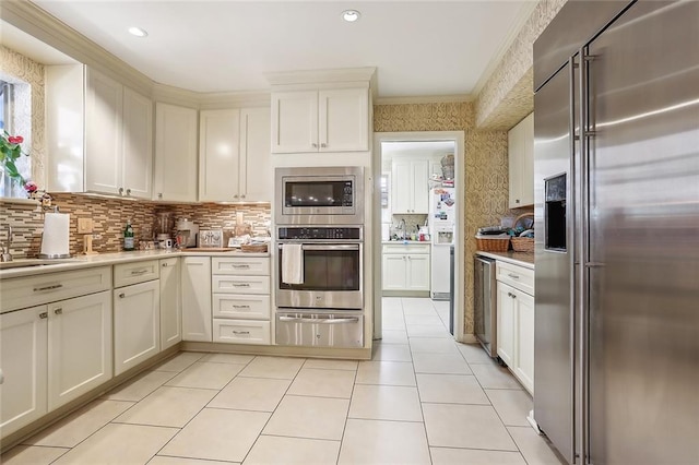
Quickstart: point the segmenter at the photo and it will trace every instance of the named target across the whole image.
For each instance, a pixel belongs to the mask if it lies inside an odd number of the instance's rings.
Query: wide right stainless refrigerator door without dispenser
[[[638,2],[589,55],[590,461],[697,464],[699,2]]]

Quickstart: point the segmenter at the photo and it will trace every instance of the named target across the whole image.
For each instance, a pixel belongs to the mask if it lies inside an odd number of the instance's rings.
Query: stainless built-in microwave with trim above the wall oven
[[[364,168],[276,168],[277,225],[364,224]]]

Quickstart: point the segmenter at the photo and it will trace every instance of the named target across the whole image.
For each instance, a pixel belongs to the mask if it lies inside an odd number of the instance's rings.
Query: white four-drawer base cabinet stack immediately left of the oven
[[[213,259],[213,341],[229,344],[272,343],[270,259]]]

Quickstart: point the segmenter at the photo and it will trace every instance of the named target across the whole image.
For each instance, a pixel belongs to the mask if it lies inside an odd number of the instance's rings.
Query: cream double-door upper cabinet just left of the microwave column
[[[200,114],[199,201],[270,202],[270,109]]]

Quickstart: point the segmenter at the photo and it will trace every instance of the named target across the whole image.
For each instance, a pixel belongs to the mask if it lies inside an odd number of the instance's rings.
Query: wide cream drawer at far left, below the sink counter
[[[0,311],[5,312],[110,289],[111,267],[2,279],[0,287]]]

